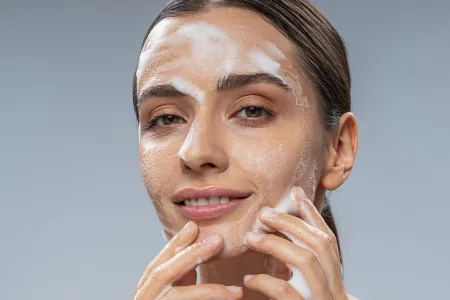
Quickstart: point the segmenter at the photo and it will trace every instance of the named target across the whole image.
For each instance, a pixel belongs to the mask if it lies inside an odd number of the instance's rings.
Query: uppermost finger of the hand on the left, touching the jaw
[[[198,226],[195,222],[189,221],[161,250],[161,252],[147,265],[144,274],[136,286],[133,297],[142,285],[147,281],[149,274],[159,265],[167,262],[178,252],[191,245],[198,236]]]

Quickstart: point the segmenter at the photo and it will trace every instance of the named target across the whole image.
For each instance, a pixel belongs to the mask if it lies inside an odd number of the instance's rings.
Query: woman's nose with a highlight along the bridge
[[[194,121],[178,152],[181,167],[195,173],[221,173],[228,168],[220,133],[213,123]]]

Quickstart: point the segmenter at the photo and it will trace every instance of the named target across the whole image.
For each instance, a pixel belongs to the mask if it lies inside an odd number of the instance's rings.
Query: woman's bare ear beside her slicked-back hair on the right
[[[355,116],[350,112],[343,114],[332,136],[321,181],[322,186],[330,191],[343,184],[352,171],[358,151],[358,128]]]

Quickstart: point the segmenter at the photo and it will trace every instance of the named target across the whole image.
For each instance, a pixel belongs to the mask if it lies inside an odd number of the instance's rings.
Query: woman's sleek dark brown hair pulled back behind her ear
[[[341,115],[350,111],[351,78],[345,44],[326,17],[306,0],[173,0],[147,30],[141,48],[153,27],[161,20],[202,12],[213,6],[237,7],[256,12],[292,42],[299,67],[310,76],[319,92],[322,123],[326,130],[333,130]],[[133,105],[139,120],[136,88],[135,72]],[[327,197],[321,215],[335,234],[341,252]]]

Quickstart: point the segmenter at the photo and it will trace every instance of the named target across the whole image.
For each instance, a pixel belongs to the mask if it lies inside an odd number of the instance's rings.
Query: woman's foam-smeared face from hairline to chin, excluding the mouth
[[[140,165],[168,238],[189,216],[186,188],[248,196],[228,213],[197,219],[199,240],[218,232],[221,257],[244,252],[261,207],[293,186],[315,197],[322,151],[315,89],[291,42],[259,15],[212,8],[159,22],[137,76]],[[184,197],[187,197],[186,195]]]

